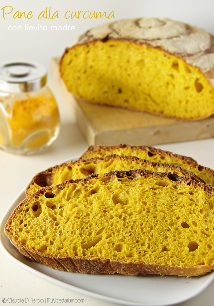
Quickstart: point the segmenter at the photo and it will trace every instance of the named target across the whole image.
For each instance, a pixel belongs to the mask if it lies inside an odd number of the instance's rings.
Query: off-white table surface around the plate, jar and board
[[[49,148],[37,155],[19,156],[0,151],[0,219],[13,199],[27,186],[37,172],[70,157],[80,155],[87,148],[87,142],[76,126],[69,106],[57,90],[53,81],[49,81],[49,86],[57,99],[60,109],[60,135]],[[186,132],[188,133],[188,131]],[[214,139],[158,145],[157,147],[173,151],[174,153],[191,156],[201,165],[214,169]],[[0,305],[17,305],[18,303],[2,303],[3,298],[8,299],[10,297],[12,299],[25,297],[32,297],[33,299],[44,299],[45,297],[56,299],[84,299],[85,306],[116,305],[92,299],[43,281],[18,267],[0,250]],[[213,306],[213,300],[214,282],[199,296],[182,305]],[[41,303],[33,304],[40,305]],[[58,305],[58,303],[51,303],[51,305]]]

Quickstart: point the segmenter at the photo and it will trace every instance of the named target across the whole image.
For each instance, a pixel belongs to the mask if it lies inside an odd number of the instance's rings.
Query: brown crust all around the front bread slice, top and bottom
[[[35,198],[38,199],[39,195],[44,195],[47,191],[53,191],[56,188],[63,188],[69,183],[79,183],[79,182],[89,182],[93,179],[98,179],[101,181],[109,181],[112,180],[113,177],[117,178],[127,178],[127,179],[135,179],[139,176],[149,177],[154,176],[156,178],[168,178],[169,180],[179,182],[180,184],[193,184],[194,186],[198,186],[203,188],[205,191],[214,193],[214,188],[210,185],[197,183],[192,180],[190,176],[178,176],[177,174],[166,173],[166,172],[151,172],[149,170],[136,169],[129,171],[110,171],[105,173],[103,176],[98,176],[97,174],[91,174],[83,179],[77,180],[69,180],[65,181],[59,185],[52,187],[44,187],[39,189],[37,192],[32,194],[31,196],[25,198],[19,205],[15,208],[12,215],[8,219],[5,225],[5,234],[8,236],[10,241],[14,246],[20,251],[22,255],[32,260],[38,261],[44,265],[47,265],[51,268],[69,271],[69,272],[81,272],[81,273],[91,273],[91,274],[99,274],[99,273],[120,273],[125,275],[137,275],[139,273],[142,274],[168,274],[168,275],[178,275],[178,276],[197,276],[208,273],[214,269],[214,265],[201,265],[200,267],[170,267],[170,266],[159,266],[154,264],[145,264],[145,263],[133,263],[133,262],[120,262],[120,261],[110,261],[109,259],[101,260],[100,258],[80,258],[80,257],[54,257],[54,256],[46,256],[39,251],[30,250],[27,247],[24,247],[18,244],[15,239],[12,239],[12,235],[7,232],[7,227],[9,223],[12,221],[14,215],[20,209],[20,206],[24,205],[28,202],[29,199]]]

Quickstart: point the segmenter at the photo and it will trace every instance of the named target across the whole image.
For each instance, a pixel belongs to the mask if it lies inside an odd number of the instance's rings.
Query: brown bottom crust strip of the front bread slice
[[[180,266],[160,266],[154,264],[146,264],[143,262],[120,262],[111,261],[109,259],[100,258],[80,258],[80,257],[53,257],[46,256],[41,252],[35,252],[15,244],[19,252],[31,260],[37,261],[50,268],[68,271],[80,272],[87,274],[114,274],[138,275],[138,274],[161,274],[161,275],[177,275],[177,276],[198,276],[211,272],[214,265],[201,265],[199,267],[180,267]]]

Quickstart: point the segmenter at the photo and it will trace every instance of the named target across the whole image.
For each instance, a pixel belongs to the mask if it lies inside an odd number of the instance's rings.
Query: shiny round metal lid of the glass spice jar
[[[0,91],[27,92],[45,86],[46,68],[33,61],[4,61],[0,63]]]

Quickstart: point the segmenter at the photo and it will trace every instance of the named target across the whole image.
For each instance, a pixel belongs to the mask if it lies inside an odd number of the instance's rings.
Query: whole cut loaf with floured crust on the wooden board
[[[214,112],[214,37],[168,18],[95,26],[65,50],[60,72],[92,103],[188,120]]]

